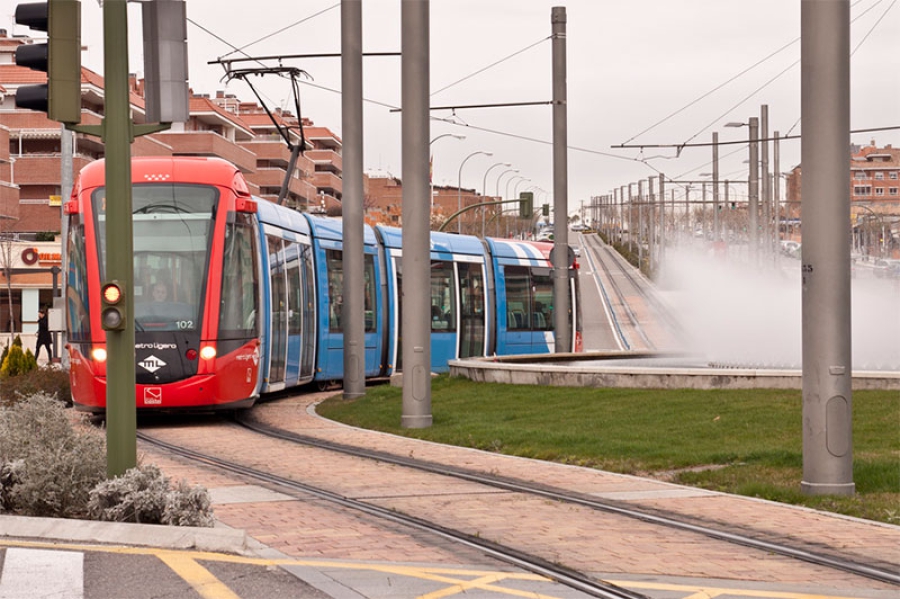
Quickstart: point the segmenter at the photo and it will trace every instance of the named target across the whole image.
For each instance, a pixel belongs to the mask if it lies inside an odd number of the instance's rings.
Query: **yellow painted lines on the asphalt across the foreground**
[[[465,568],[429,568],[429,567],[412,567],[392,564],[369,564],[365,562],[347,562],[336,560],[322,559],[297,559],[297,558],[259,558],[247,557],[241,555],[232,555],[227,553],[212,553],[207,551],[183,550],[173,551],[171,549],[160,549],[158,547],[125,547],[121,545],[88,545],[88,544],[69,544],[69,543],[49,543],[39,541],[19,541],[0,538],[0,547],[40,547],[59,550],[72,551],[93,551],[98,553],[117,553],[122,555],[153,555],[159,557],[172,570],[179,574],[185,581],[194,586],[192,580],[198,581],[198,584],[205,585],[203,581],[213,582],[221,585],[221,588],[227,594],[212,594],[200,591],[197,586],[195,589],[204,599],[239,599],[237,595],[232,593],[227,587],[222,585],[213,575],[200,566],[197,562],[211,561],[220,563],[247,564],[255,566],[307,566],[313,568],[334,568],[345,570],[365,570],[370,572],[383,572],[386,574],[395,574],[398,576],[408,576],[410,578],[419,578],[422,580],[432,580],[435,582],[445,582],[453,586],[441,591],[423,595],[420,599],[441,599],[448,597],[453,593],[460,593],[465,588],[486,588],[495,592],[505,593],[508,595],[519,595],[523,597],[543,597],[545,595],[536,595],[535,593],[523,593],[516,589],[506,589],[504,587],[495,586],[491,582],[499,580],[527,580],[527,581],[548,581],[549,579],[537,574],[517,573],[517,572],[485,572],[484,570],[471,570]],[[192,565],[191,565],[192,564]],[[182,574],[184,572],[184,574]],[[204,574],[205,573],[205,574]],[[472,576],[474,580],[460,580],[458,577]],[[453,578],[450,578],[453,577]],[[617,586],[644,589],[644,590],[660,590],[660,591],[682,591],[690,593],[682,599],[707,599],[718,595],[733,595],[738,597],[755,597],[758,599],[861,599],[859,596],[844,595],[820,595],[811,593],[795,593],[795,592],[779,592],[764,591],[753,589],[735,589],[735,588],[718,588],[704,587],[699,585],[683,585],[655,582],[641,582],[634,580],[606,580],[610,584]],[[739,581],[736,581],[738,584]],[[208,587],[209,589],[218,588],[215,584]],[[465,588],[462,588],[465,587]],[[203,588],[207,588],[203,586]],[[440,593],[440,594],[435,594]]]

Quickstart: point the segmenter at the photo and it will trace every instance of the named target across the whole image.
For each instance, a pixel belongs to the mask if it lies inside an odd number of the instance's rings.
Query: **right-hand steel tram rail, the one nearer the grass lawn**
[[[590,508],[592,510],[615,514],[617,516],[623,516],[657,526],[664,526],[666,528],[671,528],[682,532],[701,534],[712,539],[724,541],[726,543],[750,547],[760,551],[782,555],[807,563],[849,572],[851,574],[855,574],[879,582],[900,584],[900,573],[888,570],[886,568],[873,567],[870,565],[858,563],[855,560],[851,560],[845,557],[816,553],[809,549],[789,546],[783,543],[776,542],[774,540],[755,538],[746,534],[740,534],[734,531],[723,530],[721,528],[715,528],[713,526],[687,521],[683,518],[679,519],[671,515],[661,514],[659,513],[659,511],[649,512],[644,510],[637,510],[633,508],[623,507],[622,505],[612,502],[600,501],[595,497],[573,493],[564,489],[537,485],[521,480],[489,475],[474,470],[467,470],[454,466],[448,466],[446,464],[438,464],[411,457],[390,454],[382,451],[374,451],[366,448],[344,445],[332,441],[324,441],[322,439],[301,435],[292,431],[274,428],[268,425],[261,424],[259,422],[253,422],[245,418],[237,419],[236,422],[240,426],[250,429],[254,432],[283,441],[304,444],[319,449],[339,452],[345,455],[351,455],[354,457],[386,462],[405,468],[413,468],[423,472],[429,472],[441,476],[448,476],[468,482],[474,482],[480,485],[502,489],[504,491],[525,493],[557,502],[579,505],[582,507]]]

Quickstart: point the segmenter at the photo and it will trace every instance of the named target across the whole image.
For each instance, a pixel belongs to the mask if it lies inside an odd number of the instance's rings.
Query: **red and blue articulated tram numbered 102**
[[[72,399],[106,402],[105,164],[66,203]],[[132,161],[135,383],[139,409],[233,409],[343,378],[341,220],[251,196],[215,158]],[[112,200],[110,200],[112,201]],[[402,370],[401,232],[366,227],[365,373]],[[553,351],[550,244],[432,233],[432,368],[457,357]],[[581,350],[576,264],[572,350]]]

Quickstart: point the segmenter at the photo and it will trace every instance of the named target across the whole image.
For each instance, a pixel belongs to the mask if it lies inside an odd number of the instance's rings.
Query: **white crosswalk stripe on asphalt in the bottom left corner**
[[[84,554],[78,551],[7,548],[0,599],[83,599]]]

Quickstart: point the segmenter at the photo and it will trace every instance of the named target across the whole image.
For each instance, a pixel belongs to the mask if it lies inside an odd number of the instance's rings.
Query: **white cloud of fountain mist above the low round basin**
[[[746,248],[744,248],[746,251]],[[854,370],[900,371],[900,280],[857,265],[851,287]],[[660,288],[690,332],[688,350],[713,363],[800,368],[799,260],[765,267],[699,251],[666,250]]]

